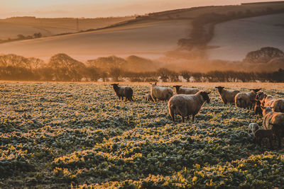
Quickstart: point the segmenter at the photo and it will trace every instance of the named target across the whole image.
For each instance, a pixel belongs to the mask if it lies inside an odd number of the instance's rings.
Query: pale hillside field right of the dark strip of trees
[[[261,47],[284,50],[283,17],[284,13],[280,13],[217,24],[208,44],[216,48],[208,50],[209,59],[242,60],[248,52]]]

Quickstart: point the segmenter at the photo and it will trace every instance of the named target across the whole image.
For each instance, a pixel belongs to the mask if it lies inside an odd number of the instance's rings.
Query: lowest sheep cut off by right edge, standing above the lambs
[[[271,107],[263,107],[263,127],[273,130],[273,134],[278,138],[278,147],[281,147],[281,138],[284,137],[284,113],[275,113]]]

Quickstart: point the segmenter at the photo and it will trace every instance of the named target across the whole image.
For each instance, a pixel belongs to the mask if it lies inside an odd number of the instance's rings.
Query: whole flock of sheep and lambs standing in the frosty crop
[[[125,101],[133,101],[133,90],[130,86],[119,86],[111,84],[116,96]],[[200,91],[197,88],[182,88],[173,86],[173,90],[168,87],[151,84],[150,93],[145,94],[146,101],[168,101],[170,117],[175,122],[175,115],[189,119],[192,115],[192,122],[195,115],[200,112],[202,105],[210,103],[209,92]],[[281,147],[281,139],[284,137],[284,99],[275,99],[273,96],[263,93],[261,88],[251,89],[250,92],[236,90],[226,90],[222,86],[217,86],[219,96],[223,103],[234,103],[238,108],[248,108],[254,110],[256,114],[263,115],[263,129],[255,122],[249,124],[249,132],[256,137],[257,144],[261,145],[263,138],[268,138],[272,148],[272,139],[278,139],[278,147]]]

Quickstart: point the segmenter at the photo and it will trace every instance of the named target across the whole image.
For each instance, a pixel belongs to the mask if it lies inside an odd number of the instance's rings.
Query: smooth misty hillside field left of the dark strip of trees
[[[178,47],[178,40],[190,33],[190,21],[151,21],[87,33],[0,44],[1,53],[49,59],[67,53],[85,61],[102,56],[160,57]]]

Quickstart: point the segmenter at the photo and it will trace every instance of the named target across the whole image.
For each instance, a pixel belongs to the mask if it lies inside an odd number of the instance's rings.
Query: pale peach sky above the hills
[[[268,0],[254,0],[268,1]],[[251,0],[0,0],[0,18],[12,16],[109,17],[142,15],[192,6],[241,4]],[[275,1],[275,0],[273,0]]]

